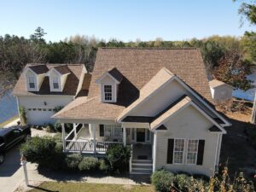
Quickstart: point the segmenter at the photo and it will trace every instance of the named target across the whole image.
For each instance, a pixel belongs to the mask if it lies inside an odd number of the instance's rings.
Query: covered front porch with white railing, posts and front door
[[[67,153],[105,154],[111,145],[131,145],[134,160],[152,160],[151,133],[143,128],[73,124],[67,135],[62,123],[63,150]],[[143,147],[144,146],[144,147]]]

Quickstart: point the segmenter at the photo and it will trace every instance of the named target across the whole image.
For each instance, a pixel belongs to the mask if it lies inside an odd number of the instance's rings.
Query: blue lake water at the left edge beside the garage
[[[8,92],[0,99],[0,123],[18,115],[17,103],[15,96]]]

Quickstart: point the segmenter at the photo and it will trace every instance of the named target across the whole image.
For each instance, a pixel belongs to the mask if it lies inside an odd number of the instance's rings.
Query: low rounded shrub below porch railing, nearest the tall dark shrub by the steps
[[[99,160],[96,157],[84,157],[79,163],[79,170],[85,172],[96,171],[98,166]]]

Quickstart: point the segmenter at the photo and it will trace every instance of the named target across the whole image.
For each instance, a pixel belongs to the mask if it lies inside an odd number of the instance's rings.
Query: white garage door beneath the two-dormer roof
[[[28,125],[44,125],[55,123],[55,119],[50,118],[54,114],[52,109],[46,108],[29,108],[26,111],[26,119]]]

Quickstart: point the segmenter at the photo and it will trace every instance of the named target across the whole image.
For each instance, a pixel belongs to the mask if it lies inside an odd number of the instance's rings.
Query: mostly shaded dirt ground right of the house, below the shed
[[[256,181],[256,149],[248,143],[245,134],[246,129],[256,129],[256,125],[249,123],[251,110],[246,112],[224,113],[232,126],[225,127],[227,134],[223,137],[222,149],[220,154],[220,163],[226,162],[232,176],[238,172],[244,172],[246,177]]]

